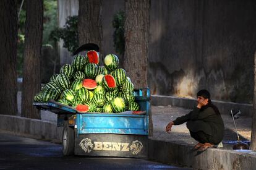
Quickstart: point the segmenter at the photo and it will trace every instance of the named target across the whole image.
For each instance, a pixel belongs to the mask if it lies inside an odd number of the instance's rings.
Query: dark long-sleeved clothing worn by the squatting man
[[[207,104],[201,109],[195,108],[189,114],[177,117],[174,125],[187,122],[191,137],[200,143],[218,144],[223,140],[224,124],[220,112],[213,104]]]

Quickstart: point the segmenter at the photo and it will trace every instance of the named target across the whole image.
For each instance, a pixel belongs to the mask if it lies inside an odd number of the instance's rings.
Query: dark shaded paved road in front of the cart
[[[0,134],[0,169],[185,169],[143,159],[62,156],[61,145]]]

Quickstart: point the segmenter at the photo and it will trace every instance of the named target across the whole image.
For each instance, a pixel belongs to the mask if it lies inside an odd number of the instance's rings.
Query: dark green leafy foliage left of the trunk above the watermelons
[[[56,28],[51,32],[51,40],[59,41],[61,38],[64,41],[64,48],[67,48],[70,52],[74,52],[79,48],[77,23],[77,15],[67,17],[64,28]]]

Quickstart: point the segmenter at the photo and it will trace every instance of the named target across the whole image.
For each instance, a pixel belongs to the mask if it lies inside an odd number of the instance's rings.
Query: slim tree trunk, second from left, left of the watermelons
[[[22,116],[40,119],[40,112],[32,106],[40,91],[40,57],[43,36],[43,0],[27,1],[25,22],[25,50],[22,88]]]

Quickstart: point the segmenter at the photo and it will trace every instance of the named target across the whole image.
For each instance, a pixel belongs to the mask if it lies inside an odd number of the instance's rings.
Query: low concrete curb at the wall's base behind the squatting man
[[[190,98],[178,98],[174,96],[151,95],[150,104],[153,106],[178,106],[181,108],[193,109],[197,100]],[[220,110],[221,114],[230,114],[231,109],[239,109],[244,116],[252,117],[254,109],[252,104],[233,103],[218,100],[211,100]]]

